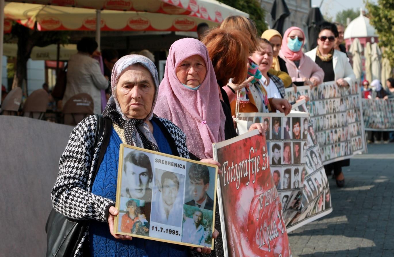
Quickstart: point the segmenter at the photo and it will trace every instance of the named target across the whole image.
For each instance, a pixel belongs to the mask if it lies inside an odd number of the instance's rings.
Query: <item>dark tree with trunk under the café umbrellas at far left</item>
[[[23,92],[27,94],[27,85],[23,81],[27,82],[27,61],[33,47],[44,47],[57,43],[65,44],[68,42],[68,31],[38,31],[37,28],[31,30],[15,22],[11,34],[10,41],[14,38],[17,38],[18,41],[17,63],[12,88],[21,87]]]

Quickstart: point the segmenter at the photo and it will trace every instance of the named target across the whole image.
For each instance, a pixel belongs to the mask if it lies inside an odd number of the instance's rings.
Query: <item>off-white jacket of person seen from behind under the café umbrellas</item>
[[[107,89],[108,80],[101,73],[99,62],[87,54],[78,52],[67,64],[67,85],[63,106],[72,96],[87,93],[93,98],[95,114],[101,114],[101,89]]]

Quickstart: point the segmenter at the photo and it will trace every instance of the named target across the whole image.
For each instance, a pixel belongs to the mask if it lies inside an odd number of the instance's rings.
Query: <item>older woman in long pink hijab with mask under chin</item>
[[[184,131],[191,159],[212,159],[212,143],[237,135],[230,111],[223,109],[228,107],[221,100],[206,46],[192,38],[173,43],[154,113]],[[252,129],[263,132],[258,123]]]

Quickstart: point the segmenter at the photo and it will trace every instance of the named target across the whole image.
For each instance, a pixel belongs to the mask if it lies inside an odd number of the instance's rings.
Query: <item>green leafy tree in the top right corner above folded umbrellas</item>
[[[394,2],[393,0],[378,0],[377,4],[367,2],[370,23],[379,35],[379,46],[383,46],[385,55],[394,66]]]

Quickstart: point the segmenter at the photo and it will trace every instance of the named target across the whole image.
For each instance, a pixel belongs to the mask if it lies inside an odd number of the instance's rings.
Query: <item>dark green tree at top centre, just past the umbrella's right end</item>
[[[245,13],[249,13],[249,18],[256,22],[258,35],[261,35],[264,30],[267,30],[265,23],[265,13],[257,0],[219,0],[223,4],[234,7]]]

